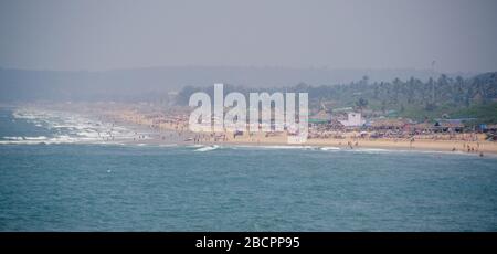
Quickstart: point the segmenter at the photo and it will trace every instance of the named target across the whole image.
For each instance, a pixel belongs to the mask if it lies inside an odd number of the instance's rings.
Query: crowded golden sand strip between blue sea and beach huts
[[[165,120],[162,117],[147,117],[136,110],[115,110],[109,114],[114,120],[120,119],[120,124],[131,124],[142,126],[150,131],[156,133],[156,138],[146,140],[147,142],[175,142],[182,144],[226,144],[226,145],[285,145],[287,142],[286,133],[244,133],[236,137],[233,133],[191,133],[188,129],[188,121],[184,118],[177,117],[175,119]],[[167,134],[165,136],[160,134]],[[318,146],[318,147],[337,147],[342,149],[357,148],[381,148],[381,149],[402,149],[402,150],[434,150],[434,151],[454,151],[470,154],[496,154],[497,144],[486,141],[485,135],[478,134],[473,140],[454,139],[448,135],[437,135],[436,138],[425,136],[414,136],[413,139],[405,138],[361,138],[358,133],[351,131],[343,134],[343,138],[309,138],[305,144],[297,146]],[[162,138],[158,138],[162,137]],[[157,140],[159,139],[159,140]]]

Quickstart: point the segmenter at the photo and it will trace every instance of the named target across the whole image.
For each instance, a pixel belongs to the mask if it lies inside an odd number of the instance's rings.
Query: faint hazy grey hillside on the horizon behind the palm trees
[[[287,67],[154,67],[106,72],[55,72],[0,68],[0,102],[12,100],[158,100],[187,85],[228,83],[244,87],[282,87],[300,82],[343,84],[368,75],[370,81],[422,81],[426,70],[328,70]],[[450,75],[450,76],[455,76]]]

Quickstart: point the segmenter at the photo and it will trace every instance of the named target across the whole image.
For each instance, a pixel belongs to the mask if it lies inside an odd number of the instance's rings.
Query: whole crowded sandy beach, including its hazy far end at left
[[[497,155],[497,142],[485,140],[485,134],[436,134],[414,135],[410,138],[371,138],[360,135],[364,131],[337,131],[338,135],[310,136],[305,144],[288,144],[286,131],[281,133],[192,133],[188,128],[188,112],[182,109],[160,110],[149,106],[131,104],[83,104],[50,105],[56,110],[92,115],[95,118],[126,126],[136,131],[127,144],[154,145],[248,145],[248,146],[315,146],[329,149],[379,148],[391,150],[453,151],[484,156]],[[340,138],[337,138],[339,136]]]

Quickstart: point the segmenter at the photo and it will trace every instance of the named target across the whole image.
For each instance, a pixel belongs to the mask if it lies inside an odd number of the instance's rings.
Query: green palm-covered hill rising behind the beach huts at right
[[[178,96],[178,102],[187,104],[189,95],[194,91],[199,88],[184,87]],[[212,93],[212,87],[202,91]],[[230,91],[248,93],[254,89],[225,86],[225,93]],[[440,75],[426,82],[415,77],[405,81],[395,78],[391,82],[370,82],[368,76],[364,76],[348,84],[313,86],[300,83],[269,92],[275,91],[307,92],[311,108],[319,108],[321,105],[331,110],[355,107],[361,110],[394,112],[394,116],[413,119],[450,116],[497,123],[497,72],[469,78]]]

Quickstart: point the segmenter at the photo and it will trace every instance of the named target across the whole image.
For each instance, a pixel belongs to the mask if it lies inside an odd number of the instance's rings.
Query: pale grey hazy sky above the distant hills
[[[0,66],[497,71],[497,1],[0,0]]]

